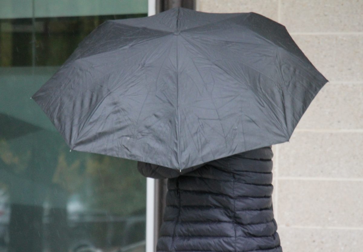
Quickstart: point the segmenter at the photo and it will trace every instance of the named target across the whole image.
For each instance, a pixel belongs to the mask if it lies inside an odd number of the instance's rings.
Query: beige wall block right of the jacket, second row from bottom
[[[281,226],[363,228],[363,181],[278,181]]]

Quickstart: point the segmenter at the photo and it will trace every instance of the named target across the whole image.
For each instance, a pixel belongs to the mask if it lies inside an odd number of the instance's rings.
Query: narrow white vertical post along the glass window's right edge
[[[147,16],[155,15],[155,0],[147,1]],[[155,179],[146,178],[146,252],[156,252],[154,244],[155,216]]]

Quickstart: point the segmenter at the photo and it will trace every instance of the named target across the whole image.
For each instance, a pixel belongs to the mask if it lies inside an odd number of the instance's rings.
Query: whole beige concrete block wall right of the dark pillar
[[[196,0],[286,26],[329,80],[290,142],[273,145],[273,206],[284,252],[363,251],[363,0]]]

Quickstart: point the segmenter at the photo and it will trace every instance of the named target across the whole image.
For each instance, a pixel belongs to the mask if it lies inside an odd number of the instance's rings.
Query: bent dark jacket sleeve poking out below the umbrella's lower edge
[[[179,172],[179,170],[171,169],[165,166],[138,161],[137,169],[144,177],[156,178],[156,179],[176,178],[179,175],[183,175],[185,173],[196,170],[199,167],[203,166],[204,164],[195,165],[187,169],[183,169],[181,172]]]

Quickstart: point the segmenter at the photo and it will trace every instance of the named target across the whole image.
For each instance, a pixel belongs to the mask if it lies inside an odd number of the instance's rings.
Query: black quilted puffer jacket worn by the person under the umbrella
[[[282,252],[272,208],[271,146],[181,172],[138,162],[168,178],[158,252]]]

